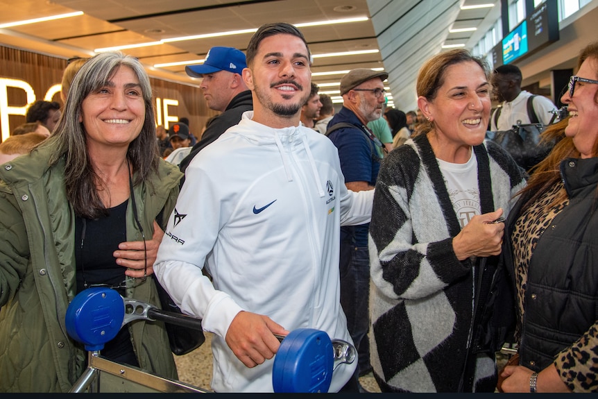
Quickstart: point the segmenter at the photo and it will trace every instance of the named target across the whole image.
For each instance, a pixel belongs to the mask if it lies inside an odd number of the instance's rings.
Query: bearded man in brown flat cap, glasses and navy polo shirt
[[[341,78],[343,108],[328,123],[326,135],[339,149],[345,185],[354,192],[374,189],[380,167],[377,147],[384,145],[368,128],[382,117],[384,71],[358,68]],[[370,260],[369,223],[341,227],[341,305],[351,338],[359,352],[360,375],[370,367],[368,351]],[[361,350],[360,350],[361,348]]]

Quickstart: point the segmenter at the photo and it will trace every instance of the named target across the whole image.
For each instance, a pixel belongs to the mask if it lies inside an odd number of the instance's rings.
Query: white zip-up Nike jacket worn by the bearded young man
[[[340,227],[367,223],[372,210],[373,191],[346,189],[330,139],[252,117],[245,112],[189,164],[154,266],[182,311],[214,333],[216,392],[273,391],[273,359],[248,368],[225,343],[242,310],[351,342],[339,302]],[[330,391],[355,367],[336,368]]]

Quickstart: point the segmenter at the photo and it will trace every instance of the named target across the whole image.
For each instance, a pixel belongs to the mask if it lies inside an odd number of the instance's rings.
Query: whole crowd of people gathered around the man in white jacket
[[[382,392],[598,391],[598,42],[533,174],[486,139],[512,69],[443,51],[403,112],[386,71],[345,74],[335,111],[310,67],[291,24],[260,26],[246,53],[213,47],[186,68],[219,112],[194,137],[156,126],[137,58],[69,63],[64,105],[34,103],[0,144],[0,391],[69,391],[87,365],[71,300],[103,285],[159,304],[158,282],[213,333],[219,393],[273,391],[298,328],[357,349],[332,392],[364,392],[364,373]],[[517,355],[498,370],[505,342]],[[178,378],[159,321],[101,354]]]

